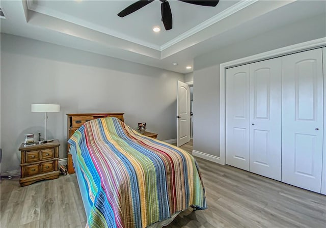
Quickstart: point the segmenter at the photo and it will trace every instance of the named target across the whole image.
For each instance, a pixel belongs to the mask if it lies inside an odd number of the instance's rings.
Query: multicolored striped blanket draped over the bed
[[[88,186],[86,227],[146,227],[188,207],[207,208],[193,156],[117,118],[85,123],[68,143]]]

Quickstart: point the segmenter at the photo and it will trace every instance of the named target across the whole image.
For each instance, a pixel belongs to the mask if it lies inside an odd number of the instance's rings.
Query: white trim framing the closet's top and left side
[[[254,63],[254,62],[258,62],[258,61],[262,61],[262,60],[273,59],[273,58],[277,58],[277,57],[287,55],[287,54],[293,54],[296,52],[325,47],[326,46],[325,40],[326,40],[326,37],[316,39],[316,40],[311,40],[308,42],[299,43],[299,44],[294,44],[291,46],[282,47],[282,48],[278,48],[275,50],[251,55],[246,58],[222,63],[220,65],[220,126],[221,126],[220,127],[220,159],[219,159],[220,164],[225,165],[225,159],[226,159],[226,154],[225,154],[225,149],[226,149],[226,135],[225,135],[225,133],[226,133],[226,116],[225,116],[226,115],[226,69],[244,65],[244,64]],[[326,93],[325,87],[323,88],[323,93],[325,96],[325,93]],[[324,123],[325,122],[326,121],[324,121]],[[325,126],[324,126],[324,129],[325,129]],[[326,136],[324,135],[324,137],[326,137]],[[326,147],[326,145],[323,145],[323,147]]]

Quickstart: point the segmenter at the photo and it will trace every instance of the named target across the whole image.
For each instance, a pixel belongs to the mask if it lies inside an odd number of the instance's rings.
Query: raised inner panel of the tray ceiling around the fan
[[[28,1],[28,8],[107,35],[160,50],[160,46],[239,3],[239,1],[221,1],[216,7],[204,7],[170,0],[173,29],[165,31],[161,22],[160,1],[154,1],[124,18],[117,16],[121,10],[134,2],[60,1],[59,4],[58,1]],[[157,25],[162,30],[159,33],[154,33],[152,28]]]

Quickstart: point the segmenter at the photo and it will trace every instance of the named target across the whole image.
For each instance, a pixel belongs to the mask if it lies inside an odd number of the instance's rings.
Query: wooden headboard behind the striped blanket
[[[116,117],[122,122],[123,114],[121,113],[73,113],[73,114],[66,114],[67,115],[67,141],[73,135],[75,130],[77,130],[80,126],[82,126],[85,122],[104,118],[104,117]],[[72,163],[72,156],[69,154],[70,144],[67,145],[67,168],[69,174],[74,174],[75,169]]]

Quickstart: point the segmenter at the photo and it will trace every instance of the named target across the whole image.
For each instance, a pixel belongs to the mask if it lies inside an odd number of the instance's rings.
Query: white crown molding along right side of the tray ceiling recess
[[[160,46],[160,50],[165,50],[169,47],[171,47],[172,45],[202,31],[203,29],[206,29],[206,27],[219,22],[221,20],[223,20],[224,18],[231,16],[232,14],[250,6],[251,4],[256,3],[258,0],[249,0],[249,1],[240,1],[236,4],[234,4],[233,6],[225,9],[224,11],[222,11],[221,13],[216,14],[215,16],[209,18],[208,20],[198,24],[197,26],[193,27],[193,29],[188,30],[187,32],[181,34],[180,36],[177,36],[176,38],[170,40],[169,42],[163,44]]]

